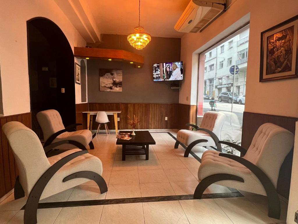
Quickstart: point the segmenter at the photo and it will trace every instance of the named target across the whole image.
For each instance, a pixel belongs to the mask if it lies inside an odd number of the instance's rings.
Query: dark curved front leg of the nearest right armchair
[[[214,174],[209,177],[204,178],[199,182],[198,186],[195,188],[195,193],[193,197],[196,199],[201,199],[203,192],[209,187],[211,184],[221,181],[221,180],[236,180],[244,183],[243,178],[232,175],[232,174]]]

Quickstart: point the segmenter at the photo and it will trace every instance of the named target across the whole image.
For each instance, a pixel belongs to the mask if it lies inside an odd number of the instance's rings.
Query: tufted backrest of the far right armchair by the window
[[[226,115],[221,112],[207,111],[204,113],[200,128],[205,128],[212,131],[220,138],[221,128],[224,125]]]

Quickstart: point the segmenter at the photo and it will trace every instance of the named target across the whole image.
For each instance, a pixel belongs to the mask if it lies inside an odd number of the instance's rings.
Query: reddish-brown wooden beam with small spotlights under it
[[[90,48],[90,47],[74,47],[74,54],[77,58],[89,58],[93,60],[108,60],[123,61],[126,63],[133,62],[136,67],[143,67],[144,56],[135,54],[126,50]]]

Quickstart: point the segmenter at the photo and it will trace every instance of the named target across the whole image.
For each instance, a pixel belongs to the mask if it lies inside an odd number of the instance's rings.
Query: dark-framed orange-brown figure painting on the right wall
[[[261,33],[260,82],[298,77],[298,16]]]

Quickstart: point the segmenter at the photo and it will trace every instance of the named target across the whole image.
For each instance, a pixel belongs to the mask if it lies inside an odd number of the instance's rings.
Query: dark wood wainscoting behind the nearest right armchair
[[[245,149],[248,149],[250,144],[252,143],[252,138],[254,137],[254,134],[257,132],[257,129],[264,123],[276,124],[295,134],[296,121],[296,117],[285,117],[261,113],[244,112],[241,146]],[[285,158],[280,168],[280,174],[277,183],[277,192],[285,198],[289,197],[290,192],[292,162],[293,151],[291,151]]]

